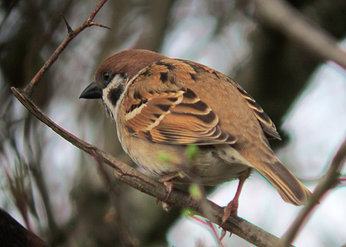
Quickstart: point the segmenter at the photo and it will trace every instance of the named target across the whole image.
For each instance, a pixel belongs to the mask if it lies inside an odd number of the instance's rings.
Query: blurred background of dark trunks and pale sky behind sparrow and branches
[[[289,2],[340,42],[345,39],[345,0]],[[77,28],[96,3],[0,1],[0,207],[50,246],[217,246],[209,226],[178,208],[165,213],[155,198],[118,182],[113,170],[60,138],[11,94],[10,87],[28,84],[66,37],[61,14]],[[271,145],[280,159],[315,188],[346,134],[345,70],[261,25],[251,1],[111,0],[95,21],[111,30],[91,27],[77,36],[34,92],[34,102],[56,123],[134,165],[101,102],[78,98],[104,58],[123,49],[150,49],[235,79],[276,124],[283,141]],[[236,186],[211,188],[210,197],[226,205]],[[345,208],[342,182],[294,244],[345,244]],[[239,216],[280,237],[300,209],[254,173],[244,186]],[[234,235],[222,243],[251,246]]]

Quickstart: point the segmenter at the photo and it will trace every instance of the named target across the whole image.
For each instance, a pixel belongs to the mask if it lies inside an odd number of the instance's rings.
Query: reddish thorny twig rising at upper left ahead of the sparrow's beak
[[[23,93],[26,94],[29,98],[31,98],[31,95],[34,91],[35,86],[37,83],[41,80],[43,77],[45,71],[55,62],[55,60],[58,58],[60,53],[67,47],[67,45],[79,34],[81,33],[84,29],[90,26],[99,26],[99,27],[104,27],[108,28],[104,25],[98,24],[93,22],[92,20],[94,19],[95,15],[97,12],[101,9],[101,7],[106,3],[107,0],[100,0],[95,9],[92,11],[90,16],[87,18],[87,20],[79,26],[76,30],[72,30],[70,25],[68,24],[67,20],[63,16],[63,19],[65,21],[65,24],[67,26],[67,37],[66,39],[60,44],[60,46],[53,52],[53,54],[48,58],[48,60],[43,64],[42,68],[37,72],[37,74],[34,76],[34,78],[30,81],[30,83],[24,88]]]

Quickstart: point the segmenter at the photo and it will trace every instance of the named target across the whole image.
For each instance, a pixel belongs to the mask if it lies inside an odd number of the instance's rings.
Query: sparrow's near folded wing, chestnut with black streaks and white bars
[[[156,143],[234,144],[236,137],[219,127],[213,109],[174,82],[172,66],[157,62],[130,82],[123,100],[129,133]]]

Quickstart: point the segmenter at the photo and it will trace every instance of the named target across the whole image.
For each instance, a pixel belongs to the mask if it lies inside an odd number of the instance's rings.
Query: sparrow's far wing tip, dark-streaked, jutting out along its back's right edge
[[[269,116],[263,111],[259,103],[256,102],[242,87],[235,83],[238,91],[241,93],[242,97],[246,100],[248,106],[253,110],[255,116],[259,120],[260,125],[264,131],[264,134],[267,138],[274,138],[281,140],[279,133],[276,131],[274,123],[271,121]]]

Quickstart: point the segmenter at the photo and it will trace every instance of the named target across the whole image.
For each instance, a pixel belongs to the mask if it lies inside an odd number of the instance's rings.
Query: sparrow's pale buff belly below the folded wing
[[[188,162],[183,145],[163,145],[132,137],[124,150],[133,161],[151,175],[160,178],[179,174],[177,183],[191,183],[194,179],[204,185],[217,185],[237,179],[251,166],[229,145],[199,148],[196,159]]]

